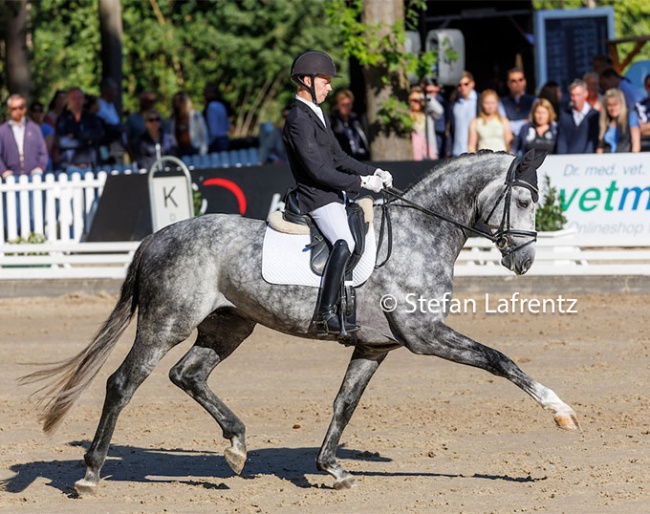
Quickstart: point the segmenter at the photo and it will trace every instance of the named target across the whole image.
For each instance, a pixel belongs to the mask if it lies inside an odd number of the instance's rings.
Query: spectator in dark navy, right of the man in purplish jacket
[[[56,120],[61,165],[68,173],[97,166],[97,148],[104,139],[101,120],[84,111],[84,101],[81,89],[70,89],[67,106]]]

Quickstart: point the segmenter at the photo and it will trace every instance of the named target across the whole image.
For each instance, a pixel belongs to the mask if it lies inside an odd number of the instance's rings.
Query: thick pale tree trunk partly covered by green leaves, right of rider
[[[403,0],[364,0],[363,22],[379,23],[388,32],[397,20],[404,20]],[[383,34],[377,34],[378,37]],[[384,83],[388,70],[384,67],[366,65],[363,76],[366,83],[368,125],[371,154],[374,160],[402,161],[413,159],[411,139],[398,136],[394,130],[381,127],[377,111],[389,98],[401,98],[406,102],[408,78],[406,71]]]

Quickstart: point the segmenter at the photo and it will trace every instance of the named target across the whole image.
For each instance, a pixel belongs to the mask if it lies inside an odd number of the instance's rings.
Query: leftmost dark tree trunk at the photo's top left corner
[[[7,88],[30,99],[32,78],[27,54],[27,0],[5,2]]]

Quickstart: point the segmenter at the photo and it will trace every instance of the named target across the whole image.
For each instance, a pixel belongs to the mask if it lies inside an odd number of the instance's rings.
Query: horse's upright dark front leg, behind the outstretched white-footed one
[[[332,421],[316,458],[318,469],[335,478],[334,489],[349,489],[355,484],[354,477],[337,462],[336,448],[361,395],[387,353],[387,350],[376,351],[358,347],[348,364],[343,383],[334,400]]]

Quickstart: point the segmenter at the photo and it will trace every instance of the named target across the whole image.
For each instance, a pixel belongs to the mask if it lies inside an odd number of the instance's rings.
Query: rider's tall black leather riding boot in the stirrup
[[[337,334],[347,336],[348,332],[359,330],[357,325],[352,325],[341,320],[345,314],[337,313],[337,305],[341,298],[341,287],[345,276],[345,267],[350,260],[348,243],[339,239],[334,243],[330,256],[325,264],[321,278],[320,296],[316,311],[316,325],[318,335]]]

